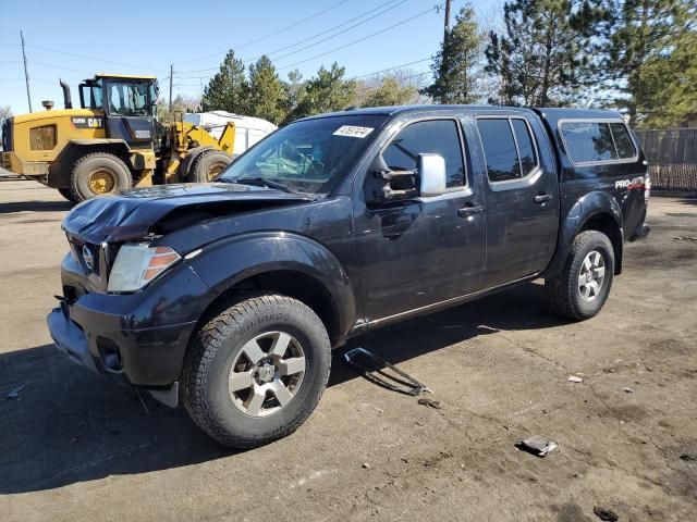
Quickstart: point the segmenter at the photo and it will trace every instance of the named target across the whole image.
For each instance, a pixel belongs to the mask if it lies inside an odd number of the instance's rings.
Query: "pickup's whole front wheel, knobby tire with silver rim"
[[[296,299],[262,295],[209,320],[189,346],[183,402],[216,440],[249,448],[293,433],[327,386],[329,336]]]

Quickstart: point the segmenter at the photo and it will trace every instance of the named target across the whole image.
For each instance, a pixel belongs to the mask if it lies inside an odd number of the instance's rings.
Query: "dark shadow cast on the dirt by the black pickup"
[[[541,285],[525,285],[364,335],[348,348],[363,346],[396,364],[499,330],[563,324],[545,310],[541,291]],[[358,376],[342,353],[334,352],[330,386]],[[142,401],[133,390],[76,368],[51,345],[0,355],[0,495],[235,455],[183,410],[147,395]],[[16,397],[8,398],[14,390]]]

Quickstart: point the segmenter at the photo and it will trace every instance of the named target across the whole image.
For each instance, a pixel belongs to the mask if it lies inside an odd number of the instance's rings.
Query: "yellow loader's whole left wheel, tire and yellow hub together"
[[[81,158],[71,175],[70,192],[75,201],[127,190],[133,186],[131,171],[118,157],[95,152]]]

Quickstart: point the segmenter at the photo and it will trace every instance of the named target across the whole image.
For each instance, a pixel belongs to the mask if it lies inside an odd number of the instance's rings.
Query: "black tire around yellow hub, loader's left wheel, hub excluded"
[[[126,164],[120,158],[108,152],[93,152],[83,156],[70,176],[70,194],[75,202],[101,196],[89,188],[89,176],[98,170],[103,170],[113,175],[114,188],[108,194],[115,194],[133,187],[133,176]]]

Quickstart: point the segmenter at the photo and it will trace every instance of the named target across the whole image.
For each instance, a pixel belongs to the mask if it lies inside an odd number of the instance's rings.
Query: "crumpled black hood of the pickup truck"
[[[230,183],[161,185],[84,201],[65,216],[62,226],[71,236],[98,245],[142,239],[174,211],[215,209],[217,214],[230,214],[311,199]]]

